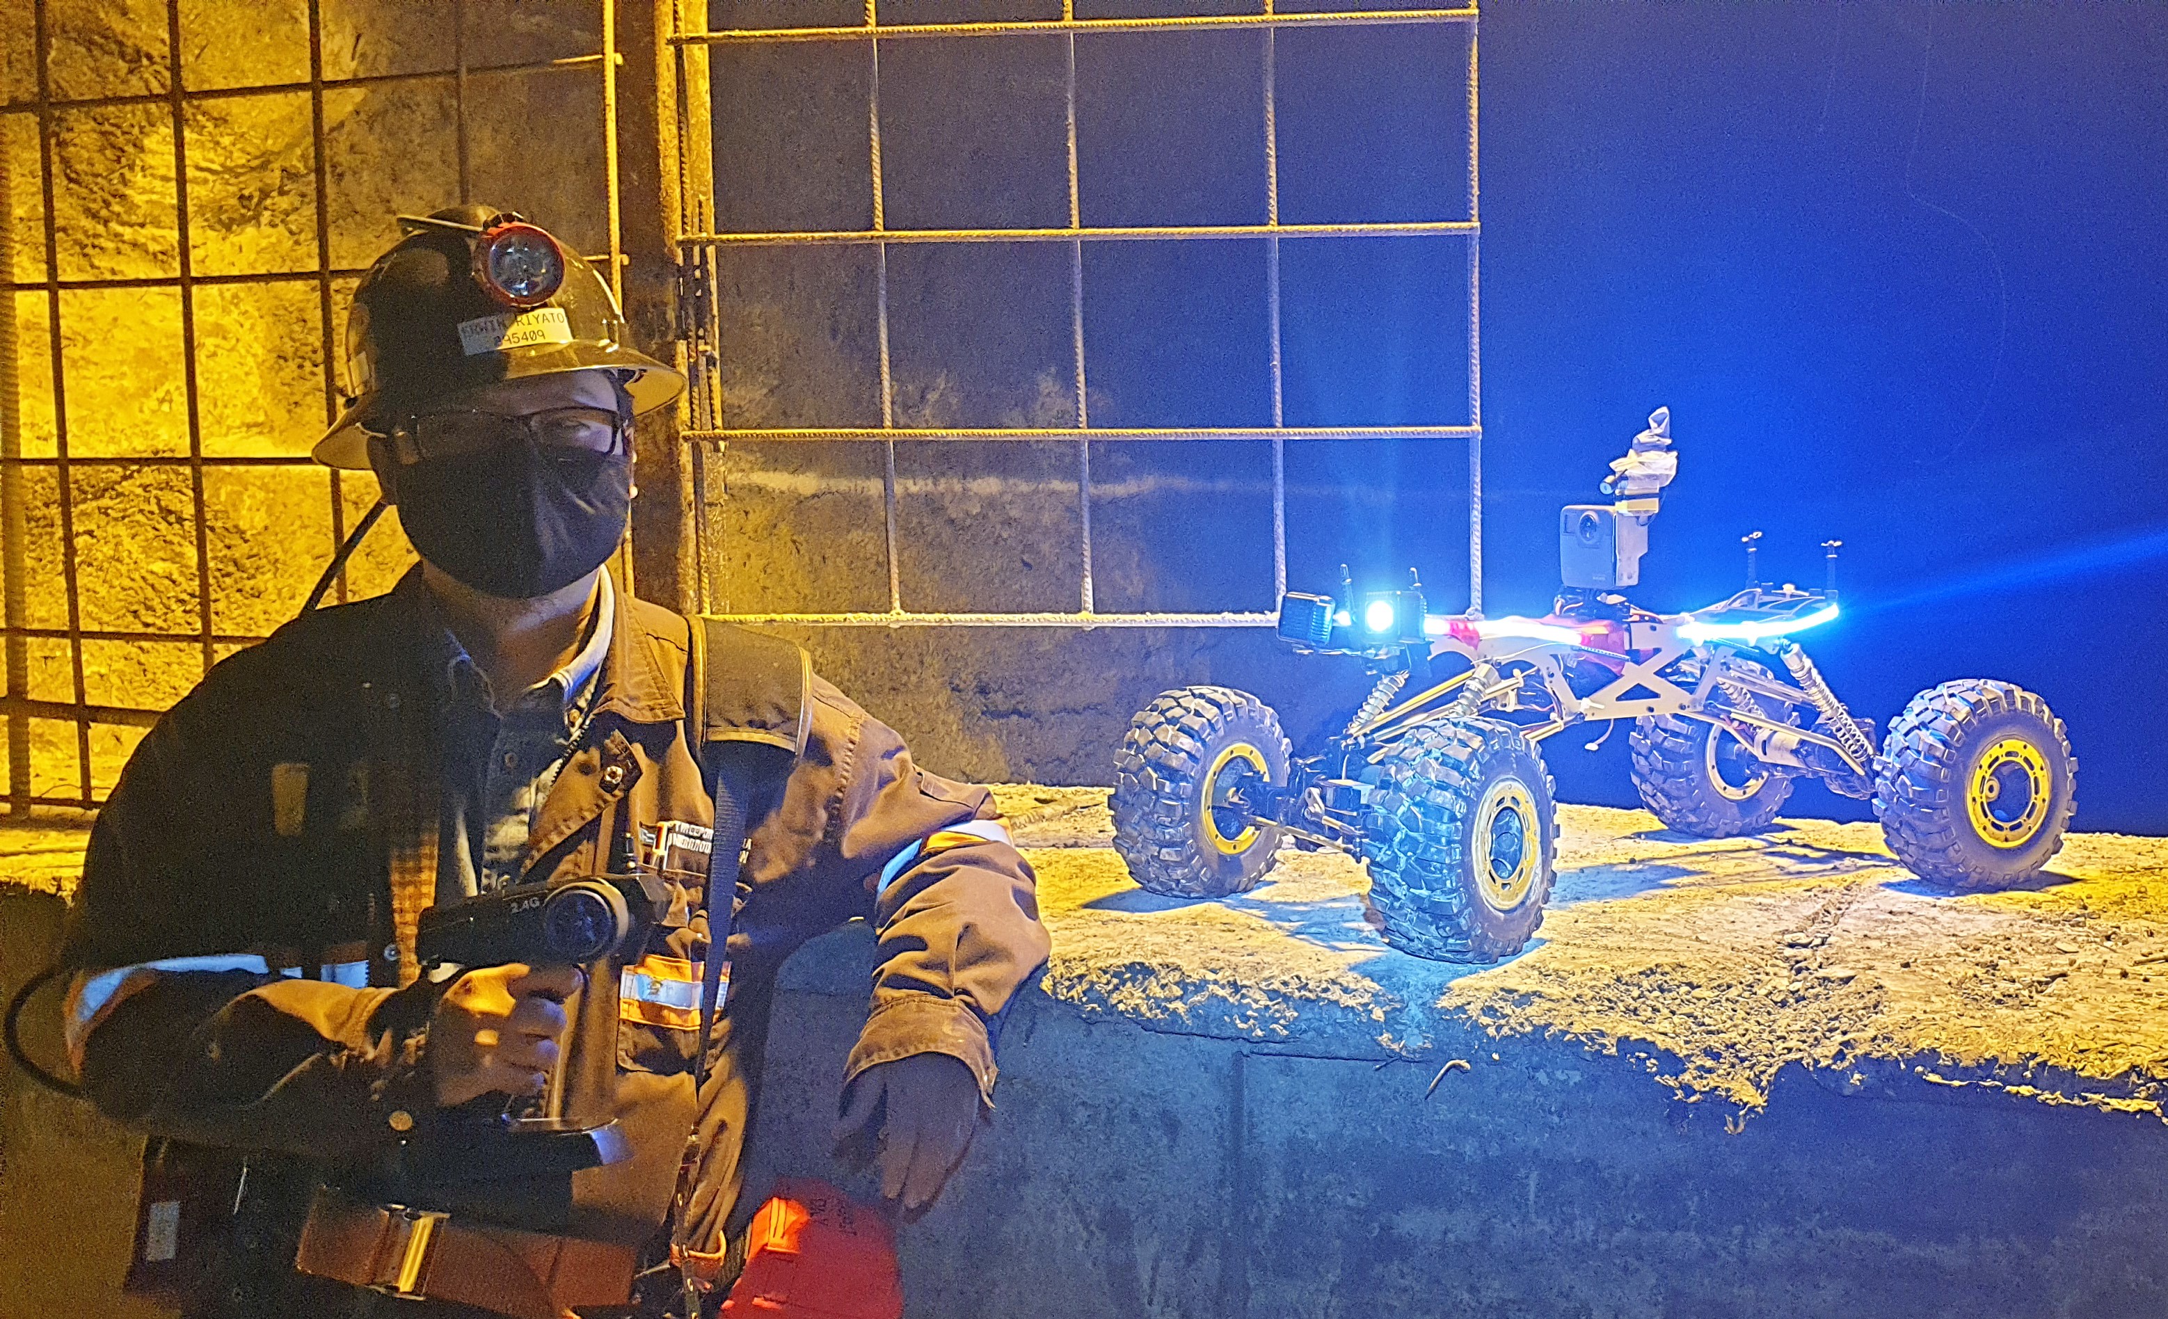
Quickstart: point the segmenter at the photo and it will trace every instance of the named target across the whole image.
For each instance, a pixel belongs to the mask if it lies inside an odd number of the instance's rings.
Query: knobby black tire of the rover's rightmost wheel
[[[2049,770],[2047,820],[2021,848],[1988,844],[1971,822],[1966,794],[1995,738],[2018,735]],[[2005,885],[2038,874],[2062,848],[2077,811],[2077,757],[2047,701],[2016,683],[1958,679],[1930,688],[1890,725],[1875,759],[1875,816],[1906,868],[1936,885]]]

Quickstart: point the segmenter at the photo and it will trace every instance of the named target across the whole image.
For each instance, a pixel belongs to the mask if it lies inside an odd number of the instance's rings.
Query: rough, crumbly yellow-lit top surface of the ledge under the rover
[[[1104,787],[995,785],[1054,931],[1045,989],[1086,1015],[1294,1052],[1450,1063],[1444,1020],[1643,1059],[1680,1100],[1758,1111],[1802,1063],[1893,1067],[2047,1104],[2168,1117],[2168,840],[2073,835],[2047,874],[1945,894],[1873,824],[1698,840],[1559,809],[1544,929],[1507,963],[1429,963],[1364,920],[1362,868],[1286,850],[1249,894],[1134,885]],[[0,827],[0,883],[67,896],[85,831]]]

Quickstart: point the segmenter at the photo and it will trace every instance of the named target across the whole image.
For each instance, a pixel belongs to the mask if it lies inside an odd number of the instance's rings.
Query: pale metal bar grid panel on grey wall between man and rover
[[[1416,28],[1416,26],[1459,26],[1466,30],[1466,213],[1435,219],[1398,221],[1296,221],[1281,219],[1279,180],[1279,80],[1277,37],[1281,30],[1316,28]],[[1264,98],[1262,143],[1229,143],[1227,150],[1262,150],[1264,156],[1264,221],[1262,223],[1125,223],[1086,226],[1082,204],[1082,180],[1077,169],[1077,39],[1112,33],[1212,33],[1212,30],[1257,30],[1262,35],[1262,63],[1257,69]],[[891,228],[887,223],[887,178],[882,161],[885,111],[880,100],[880,59],[885,48],[908,41],[980,39],[989,59],[1002,39],[1058,37],[1064,46],[1064,150],[1067,150],[1067,223],[1064,226],[991,226],[991,228]],[[685,195],[679,200],[679,215],[685,217],[687,232],[681,234],[681,256],[689,271],[702,276],[696,317],[692,323],[694,351],[689,362],[696,369],[689,395],[689,425],[683,432],[694,445],[692,477],[698,536],[711,538],[715,532],[705,518],[709,501],[711,456],[728,443],[806,443],[826,445],[839,440],[876,443],[882,447],[882,545],[887,558],[887,607],[882,610],[770,610],[728,612],[722,616],[748,623],[806,623],[806,625],[971,625],[971,627],[1262,627],[1273,616],[1264,612],[1101,612],[1095,607],[1093,581],[1093,445],[1101,440],[1253,440],[1270,449],[1270,518],[1273,518],[1273,594],[1288,586],[1288,490],[1286,490],[1286,443],[1288,440],[1463,440],[1468,445],[1468,566],[1470,601],[1483,603],[1483,490],[1481,490],[1481,312],[1476,299],[1479,284],[1479,167],[1476,167],[1476,9],[1344,9],[1344,11],[1277,11],[1273,0],[1264,0],[1260,13],[1242,15],[1175,15],[1175,17],[1080,17],[1075,0],[1062,0],[1058,20],[997,20],[997,22],[882,22],[878,0],[865,2],[865,20],[850,26],[737,26],[726,30],[681,30],[672,43],[683,52],[707,52],[718,48],[774,48],[796,43],[848,43],[863,46],[867,61],[867,187],[872,191],[869,228],[739,228],[702,230],[696,217],[711,215],[709,197]],[[681,59],[683,78],[683,59]],[[1346,67],[1340,76],[1355,80],[1362,67]],[[689,100],[681,82],[681,102]],[[895,124],[889,124],[891,132]],[[1409,135],[1440,132],[1437,124],[1405,124]],[[1286,362],[1281,345],[1281,243],[1333,243],[1372,239],[1424,236],[1442,243],[1457,243],[1459,252],[1442,252],[1440,260],[1466,260],[1468,269],[1468,410],[1466,417],[1440,419],[1435,425],[1288,425],[1286,423]],[[1197,243],[1197,241],[1264,241],[1264,302],[1266,302],[1266,354],[1270,388],[1270,425],[1093,425],[1088,388],[1091,354],[1086,338],[1086,247],[1104,243]],[[900,425],[895,401],[895,371],[891,351],[891,247],[915,245],[976,245],[976,243],[1049,243],[1069,247],[1069,328],[1073,380],[1069,425]],[[720,382],[720,369],[728,360],[731,345],[722,341],[722,295],[715,293],[718,269],[724,269],[733,254],[748,247],[872,247],[874,252],[874,319],[878,354],[878,425],[839,419],[833,425],[746,425],[733,423],[728,414],[728,390]],[[1075,610],[941,610],[915,607],[906,601],[902,575],[902,532],[898,525],[898,462],[900,440],[1073,440],[1075,443],[1075,527],[1080,553],[1080,581],[1075,588]],[[969,473],[958,471],[965,479]],[[718,592],[707,573],[709,555],[700,555],[700,581],[696,603],[707,612],[718,612]]]

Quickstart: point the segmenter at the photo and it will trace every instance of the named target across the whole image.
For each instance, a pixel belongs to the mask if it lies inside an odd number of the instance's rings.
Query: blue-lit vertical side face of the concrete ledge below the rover
[[[754,1193],[783,1174],[876,1193],[826,1145],[872,963],[861,926],[791,968]],[[2153,1117],[1904,1072],[1843,1093],[1791,1065],[1728,1130],[1628,1050],[1450,1020],[1431,1048],[1466,1065],[1149,1030],[1030,994],[993,1124],[902,1230],[908,1312],[2168,1312]]]

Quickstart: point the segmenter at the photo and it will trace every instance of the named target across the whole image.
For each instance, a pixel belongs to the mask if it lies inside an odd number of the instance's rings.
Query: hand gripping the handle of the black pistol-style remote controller
[[[490,1091],[538,1096],[557,1070],[564,1000],[579,991],[575,965],[486,965],[436,1004],[425,1059],[436,1102],[455,1109]]]

